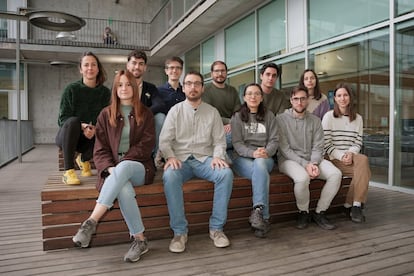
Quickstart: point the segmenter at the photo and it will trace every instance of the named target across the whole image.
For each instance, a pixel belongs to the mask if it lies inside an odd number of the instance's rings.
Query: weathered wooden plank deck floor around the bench
[[[231,246],[217,249],[207,235],[191,235],[182,254],[169,240],[124,263],[128,244],[42,251],[40,190],[56,170],[56,147],[37,146],[0,169],[1,275],[414,275],[414,195],[370,187],[367,221],[338,215],[325,231],[294,221],[275,223],[267,239],[246,228],[227,232]]]

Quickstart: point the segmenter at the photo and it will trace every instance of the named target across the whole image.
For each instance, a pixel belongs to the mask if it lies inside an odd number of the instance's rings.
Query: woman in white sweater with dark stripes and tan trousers
[[[334,109],[322,119],[325,152],[344,176],[352,177],[345,201],[347,213],[353,222],[365,220],[363,207],[367,200],[371,177],[367,156],[362,147],[362,117],[353,106],[353,93],[347,84],[339,83],[334,92]]]

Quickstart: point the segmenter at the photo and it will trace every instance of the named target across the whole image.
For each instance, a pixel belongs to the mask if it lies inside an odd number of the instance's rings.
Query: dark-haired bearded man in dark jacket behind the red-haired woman
[[[145,71],[147,70],[147,54],[144,51],[133,50],[128,55],[126,64],[127,70],[134,75],[139,87],[139,96],[141,102],[151,109],[155,121],[155,149],[154,154],[158,150],[158,137],[164,123],[165,114],[164,102],[160,97],[157,87],[143,80]]]

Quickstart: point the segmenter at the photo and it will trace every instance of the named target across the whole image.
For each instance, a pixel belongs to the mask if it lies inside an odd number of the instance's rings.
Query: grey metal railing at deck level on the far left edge
[[[21,121],[21,149],[33,148],[33,122]],[[17,121],[0,119],[0,168],[18,157]]]

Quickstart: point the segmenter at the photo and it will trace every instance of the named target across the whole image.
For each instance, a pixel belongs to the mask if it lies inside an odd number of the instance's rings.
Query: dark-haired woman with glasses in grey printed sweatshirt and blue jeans
[[[244,103],[231,119],[233,170],[252,181],[253,210],[249,222],[258,237],[270,230],[269,185],[278,147],[276,120],[263,104],[259,84],[245,87]]]

